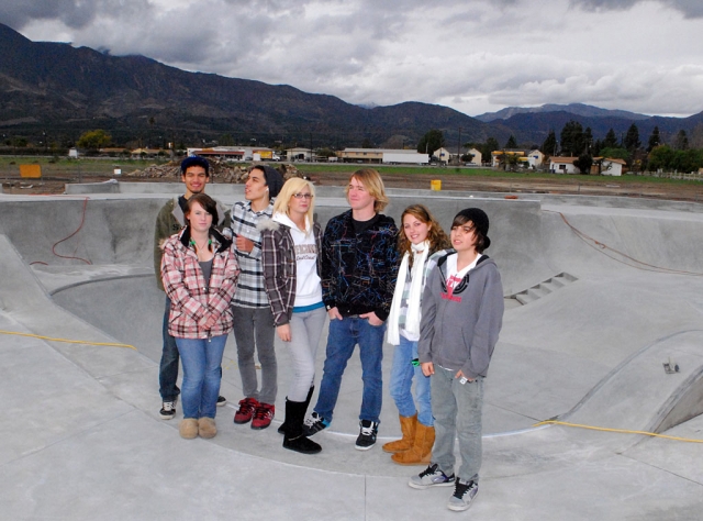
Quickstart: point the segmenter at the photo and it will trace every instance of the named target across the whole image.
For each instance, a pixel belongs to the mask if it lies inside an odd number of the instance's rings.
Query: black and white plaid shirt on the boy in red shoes
[[[252,210],[249,201],[235,202],[232,207],[232,232],[234,236],[242,235],[254,243],[250,252],[235,248],[239,263],[239,279],[237,290],[232,300],[233,306],[242,308],[266,308],[269,306],[264,289],[264,269],[261,268],[261,232],[257,224],[263,219],[270,219],[274,213],[274,199],[260,212]]]

